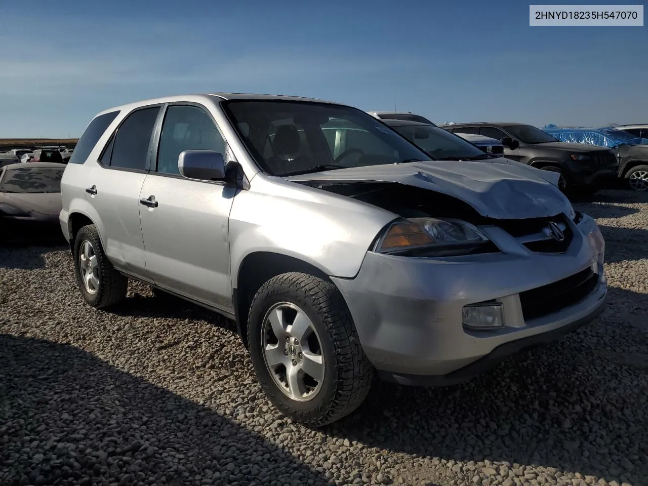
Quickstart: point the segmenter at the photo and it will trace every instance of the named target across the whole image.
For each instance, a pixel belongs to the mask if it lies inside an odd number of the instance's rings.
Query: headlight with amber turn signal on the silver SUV
[[[378,238],[375,251],[465,255],[489,242],[484,233],[465,221],[454,218],[411,218],[391,223]]]

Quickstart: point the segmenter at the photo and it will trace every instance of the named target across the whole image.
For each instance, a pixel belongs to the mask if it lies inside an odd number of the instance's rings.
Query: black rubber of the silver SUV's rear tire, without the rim
[[[98,287],[97,291],[92,294],[86,290],[82,277],[82,270],[80,265],[80,249],[84,242],[89,242],[92,245],[95,257],[98,263]],[[115,267],[106,257],[104,248],[99,239],[97,227],[93,224],[88,224],[82,227],[75,238],[75,275],[76,283],[81,290],[86,302],[92,307],[105,308],[117,305],[126,299],[126,288],[128,287],[128,279],[121,273],[115,270]]]

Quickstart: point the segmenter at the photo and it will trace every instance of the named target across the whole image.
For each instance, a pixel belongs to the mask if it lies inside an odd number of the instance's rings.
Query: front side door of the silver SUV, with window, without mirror
[[[166,110],[140,193],[146,270],[162,288],[233,312],[229,211],[237,189],[183,178],[183,150],[214,150],[229,160],[224,137],[202,106],[170,104]]]

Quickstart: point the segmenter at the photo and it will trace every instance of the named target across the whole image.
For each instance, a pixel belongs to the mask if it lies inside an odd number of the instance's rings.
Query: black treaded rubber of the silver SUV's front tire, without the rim
[[[321,388],[310,400],[288,397],[266,365],[262,325],[277,303],[290,303],[308,316],[325,362]],[[257,379],[284,415],[309,426],[323,426],[352,413],[365,399],[374,369],[364,354],[353,318],[340,291],[329,281],[306,273],[283,273],[263,284],[252,300],[248,317],[249,352]]]

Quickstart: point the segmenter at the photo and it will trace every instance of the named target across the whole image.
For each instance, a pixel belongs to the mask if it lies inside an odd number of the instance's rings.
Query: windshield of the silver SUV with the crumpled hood
[[[273,176],[430,160],[364,111],[278,100],[224,103],[259,167]]]

